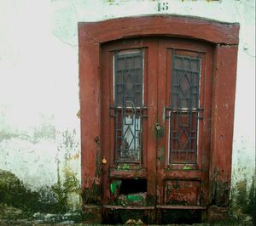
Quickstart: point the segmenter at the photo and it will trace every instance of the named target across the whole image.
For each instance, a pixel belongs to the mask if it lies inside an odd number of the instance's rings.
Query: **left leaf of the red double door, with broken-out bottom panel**
[[[102,166],[103,204],[125,203],[129,192],[122,184],[137,187],[138,199],[155,196],[150,184],[156,176],[151,126],[157,117],[157,51],[157,42],[148,38],[102,47],[102,156],[107,161]],[[146,189],[141,184],[147,184]],[[114,186],[117,192],[111,190]]]

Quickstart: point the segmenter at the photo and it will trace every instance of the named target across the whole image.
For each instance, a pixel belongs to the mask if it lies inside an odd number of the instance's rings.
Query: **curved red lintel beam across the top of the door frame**
[[[151,15],[79,22],[80,36],[94,43],[129,37],[187,37],[215,44],[238,44],[239,24],[188,16]]]

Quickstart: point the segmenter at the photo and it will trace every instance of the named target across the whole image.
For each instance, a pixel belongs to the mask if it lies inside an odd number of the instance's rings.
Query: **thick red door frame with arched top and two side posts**
[[[79,23],[81,181],[84,206],[101,203],[101,45],[130,37],[181,37],[214,45],[209,203],[227,207],[239,24],[160,15]]]

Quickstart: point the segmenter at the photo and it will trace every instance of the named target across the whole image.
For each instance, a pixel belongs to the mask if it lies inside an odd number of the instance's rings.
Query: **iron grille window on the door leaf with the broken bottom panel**
[[[116,163],[140,163],[143,150],[143,52],[114,55]]]

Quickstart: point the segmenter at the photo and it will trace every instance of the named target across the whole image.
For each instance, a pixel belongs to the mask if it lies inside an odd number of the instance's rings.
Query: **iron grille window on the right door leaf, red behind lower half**
[[[171,164],[197,162],[201,58],[172,55],[170,121]]]

